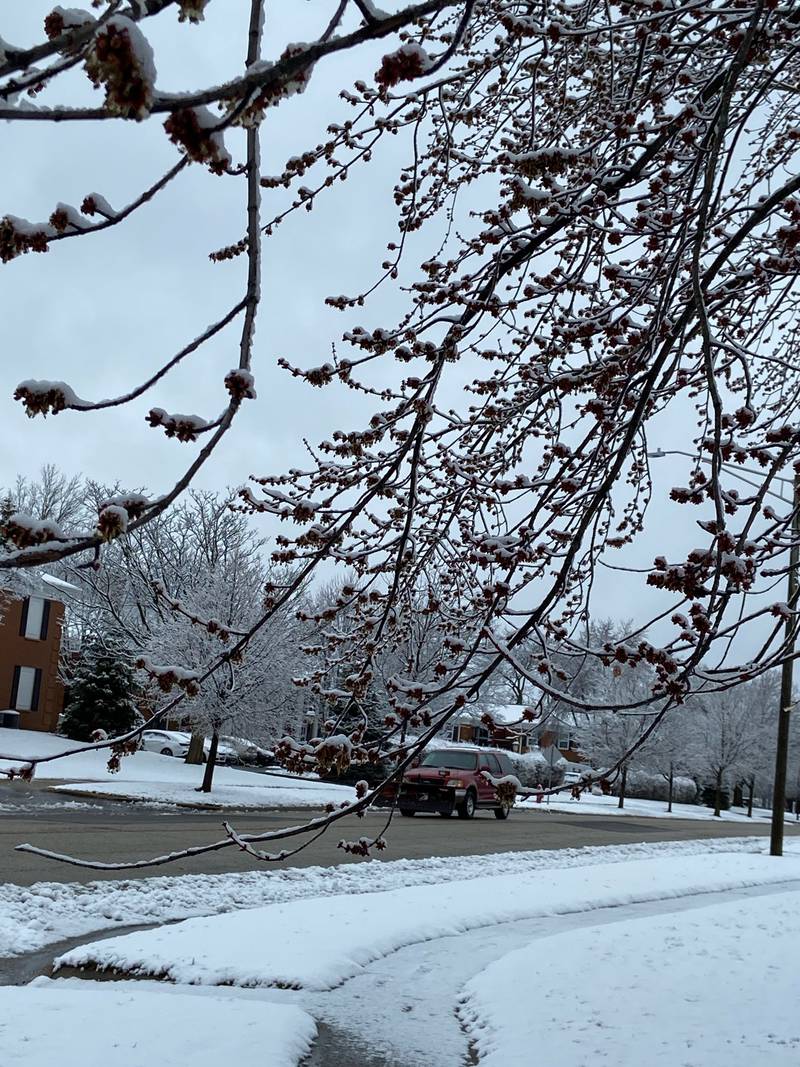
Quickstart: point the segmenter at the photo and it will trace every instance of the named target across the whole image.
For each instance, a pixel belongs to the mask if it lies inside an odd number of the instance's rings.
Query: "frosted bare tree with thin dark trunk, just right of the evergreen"
[[[199,739],[193,762],[201,762],[203,739],[211,737],[204,792],[211,789],[223,729],[274,745],[287,726],[295,726],[299,698],[291,679],[305,633],[295,618],[299,602],[258,631],[245,656],[231,655],[202,689],[194,684],[260,618],[270,582],[281,577],[263,550],[246,517],[231,510],[229,496],[192,492],[112,544],[99,571],[66,572],[80,586],[70,615],[85,633],[128,643],[149,681],[153,706],[172,684],[191,698],[179,717]]]

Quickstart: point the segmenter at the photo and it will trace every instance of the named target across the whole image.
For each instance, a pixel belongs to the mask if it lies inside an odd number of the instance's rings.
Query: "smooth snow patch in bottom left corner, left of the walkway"
[[[48,978],[0,988],[3,1067],[219,1067],[235,1062],[295,1067],[317,1028],[294,1005],[176,994],[138,983],[66,987]]]

